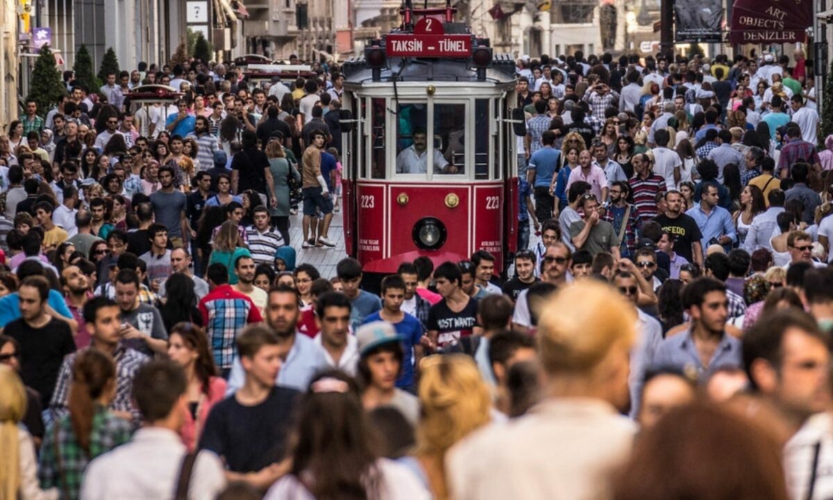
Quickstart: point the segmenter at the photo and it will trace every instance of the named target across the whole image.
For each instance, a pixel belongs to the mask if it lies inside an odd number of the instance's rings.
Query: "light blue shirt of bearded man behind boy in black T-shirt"
[[[312,377],[328,366],[327,358],[321,348],[312,342],[312,338],[296,333],[295,343],[292,343],[292,349],[289,350],[287,360],[283,362],[281,370],[277,373],[275,383],[306,393]],[[243,370],[240,358],[235,357],[232,363],[232,373],[228,376],[226,397],[231,397],[237,389],[243,387],[245,382],[246,372]]]

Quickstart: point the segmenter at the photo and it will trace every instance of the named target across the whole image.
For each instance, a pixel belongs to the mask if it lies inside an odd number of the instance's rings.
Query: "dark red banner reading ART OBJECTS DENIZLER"
[[[736,0],[732,7],[730,43],[804,42],[813,25],[811,0]]]

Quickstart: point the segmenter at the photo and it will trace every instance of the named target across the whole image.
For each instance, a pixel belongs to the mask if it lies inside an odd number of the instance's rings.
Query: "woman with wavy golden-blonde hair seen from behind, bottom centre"
[[[416,459],[438,500],[449,498],[446,452],[491,421],[491,397],[471,357],[442,354],[420,363],[422,418],[416,428]]]

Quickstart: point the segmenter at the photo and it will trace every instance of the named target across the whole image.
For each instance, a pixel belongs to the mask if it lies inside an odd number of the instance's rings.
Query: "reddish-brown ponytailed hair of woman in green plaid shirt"
[[[72,365],[72,383],[69,386],[67,408],[75,438],[87,456],[90,454],[95,401],[115,378],[116,365],[112,358],[97,349],[86,349],[78,355]]]

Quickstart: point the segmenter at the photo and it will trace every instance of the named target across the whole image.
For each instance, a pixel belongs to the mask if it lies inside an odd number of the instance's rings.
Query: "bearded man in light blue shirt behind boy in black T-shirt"
[[[269,290],[269,302],[266,308],[266,323],[277,333],[281,347],[283,366],[277,374],[275,383],[294,388],[299,391],[307,390],[312,376],[327,368],[327,360],[322,349],[306,335],[297,334],[298,318],[301,308],[298,307],[298,292],[287,285],[278,285]],[[232,373],[228,378],[227,396],[231,396],[242,388],[246,374],[240,359],[234,360]]]

